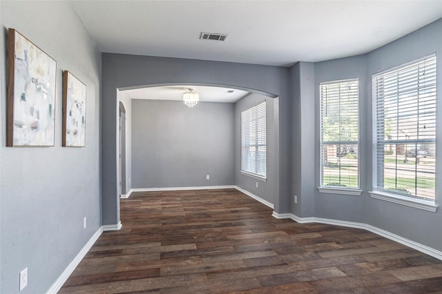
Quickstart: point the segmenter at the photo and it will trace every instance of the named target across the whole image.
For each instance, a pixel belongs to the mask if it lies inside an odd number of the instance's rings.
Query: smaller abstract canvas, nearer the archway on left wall
[[[68,70],[63,72],[62,145],[84,147],[86,139],[86,85]]]

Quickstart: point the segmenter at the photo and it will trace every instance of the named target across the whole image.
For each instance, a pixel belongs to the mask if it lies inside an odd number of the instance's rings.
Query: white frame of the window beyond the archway
[[[258,109],[258,111],[260,111],[259,110],[260,107],[263,107],[263,112],[264,112],[263,127],[264,127],[264,132],[265,132],[265,144],[263,145],[263,144],[260,144],[260,142],[258,142],[258,135],[259,134],[257,132],[256,138],[253,141],[253,144],[248,144],[247,146],[244,146],[244,120],[243,120],[244,115],[247,115],[247,112],[252,112],[253,110],[256,110],[256,109]],[[255,124],[257,128],[262,128],[262,126],[259,125],[258,117],[252,117],[252,119],[253,119],[253,124]],[[242,110],[240,113],[240,123],[241,123],[241,170],[240,170],[240,172],[242,175],[247,175],[249,177],[253,177],[255,179],[260,179],[260,180],[266,182],[267,181],[267,101],[266,100],[260,101],[257,104],[254,104],[253,106],[250,106],[249,108]],[[255,146],[255,148],[256,148],[256,153],[255,153],[255,157],[254,157],[255,166],[256,166],[255,171],[244,169],[244,159],[245,159],[244,158],[244,155],[245,155],[244,148],[246,148],[246,147],[250,148],[253,146]],[[258,165],[258,163],[262,164],[262,161],[258,161],[258,148],[260,148],[262,146],[265,147],[265,161],[264,161],[265,175],[258,173],[258,170],[260,169],[260,166]]]

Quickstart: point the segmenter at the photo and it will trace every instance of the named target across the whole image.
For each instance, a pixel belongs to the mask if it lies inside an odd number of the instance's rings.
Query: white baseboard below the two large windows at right
[[[349,228],[361,228],[363,230],[367,230],[369,232],[375,233],[376,235],[380,235],[382,237],[393,240],[395,242],[398,242],[398,243],[408,246],[410,248],[416,249],[417,251],[421,251],[422,253],[425,253],[427,255],[430,255],[432,257],[436,257],[437,259],[442,260],[442,251],[438,251],[434,248],[425,246],[425,245],[420,244],[418,242],[414,242],[410,239],[406,239],[406,238],[401,237],[399,235],[395,235],[395,234],[385,231],[381,228],[376,228],[376,226],[372,226],[369,224],[363,224],[360,222],[347,222],[347,221],[341,221],[341,220],[337,220],[337,219],[325,219],[322,217],[298,217],[292,213],[276,213],[275,211],[273,211],[272,216],[277,219],[292,219],[295,222],[298,222],[300,224],[308,224],[308,223],[312,223],[312,222],[317,222],[320,224],[332,224],[335,226],[347,226]]]

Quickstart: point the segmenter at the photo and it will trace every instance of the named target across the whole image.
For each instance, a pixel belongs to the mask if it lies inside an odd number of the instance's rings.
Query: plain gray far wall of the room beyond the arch
[[[229,103],[133,99],[133,188],[233,185],[233,121]]]

